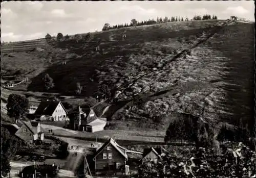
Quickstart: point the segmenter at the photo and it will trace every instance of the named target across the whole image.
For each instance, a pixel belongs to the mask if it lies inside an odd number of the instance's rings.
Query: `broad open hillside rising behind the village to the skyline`
[[[92,96],[108,85],[111,97],[124,100],[125,106],[112,103],[111,112],[106,111],[112,121],[109,129],[166,130],[177,111],[217,120],[252,120],[254,24],[217,26],[222,22],[117,29],[91,33],[89,41],[7,43],[1,45],[1,73],[6,79],[28,77],[28,85],[14,89],[30,92],[44,92],[45,73],[56,86],[50,92],[65,95],[75,95],[76,82],[83,87],[81,96]],[[131,100],[137,94],[147,97]]]

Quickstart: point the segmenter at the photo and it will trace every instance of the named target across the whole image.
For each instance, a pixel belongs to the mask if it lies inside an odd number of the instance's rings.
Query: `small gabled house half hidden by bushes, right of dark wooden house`
[[[152,161],[157,161],[157,160],[161,160],[162,159],[162,154],[164,154],[164,151],[162,150],[161,147],[158,148],[144,148],[143,150],[143,160],[147,160],[150,159]]]

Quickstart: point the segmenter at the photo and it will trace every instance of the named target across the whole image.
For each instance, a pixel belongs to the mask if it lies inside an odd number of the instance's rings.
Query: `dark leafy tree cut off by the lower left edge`
[[[10,160],[16,154],[21,141],[12,136],[11,133],[1,127],[1,174],[6,176],[11,169]]]

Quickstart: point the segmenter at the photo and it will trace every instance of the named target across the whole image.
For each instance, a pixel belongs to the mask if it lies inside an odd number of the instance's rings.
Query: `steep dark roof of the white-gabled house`
[[[39,104],[38,108],[36,109],[34,115],[49,115],[50,116],[53,114],[53,112],[55,111],[55,109],[59,103],[62,106],[62,108],[65,110],[65,112],[68,114],[67,110],[64,108],[61,101],[44,100],[44,101],[41,101],[41,103]]]

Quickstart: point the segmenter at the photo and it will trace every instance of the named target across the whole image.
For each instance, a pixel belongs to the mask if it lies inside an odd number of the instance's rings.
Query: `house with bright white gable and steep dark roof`
[[[42,100],[34,116],[37,120],[69,120],[68,112],[59,100]]]

